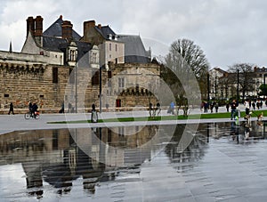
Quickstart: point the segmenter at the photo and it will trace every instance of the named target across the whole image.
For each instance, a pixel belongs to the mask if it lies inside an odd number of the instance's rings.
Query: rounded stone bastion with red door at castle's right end
[[[157,90],[160,85],[158,64],[114,64],[109,63],[112,73],[109,84],[105,85],[103,100],[115,108],[144,108],[150,102],[158,103]]]

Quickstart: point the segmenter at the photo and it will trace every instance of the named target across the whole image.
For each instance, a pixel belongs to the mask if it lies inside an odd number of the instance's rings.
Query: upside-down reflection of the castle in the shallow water
[[[119,166],[138,166],[151,158],[150,141],[158,126],[73,129],[70,133],[65,129],[2,134],[2,165],[21,163],[29,194],[37,198],[43,194],[44,182],[62,194],[80,177],[84,190],[93,193],[97,182],[116,177]]]

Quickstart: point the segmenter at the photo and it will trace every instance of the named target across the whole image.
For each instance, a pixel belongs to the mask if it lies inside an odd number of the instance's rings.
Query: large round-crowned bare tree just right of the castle
[[[165,58],[166,69],[163,78],[172,87],[178,106],[188,109],[188,104],[201,100],[199,86],[206,89],[206,75],[209,64],[200,47],[188,39],[178,39],[170,46]],[[197,89],[198,88],[198,89]],[[198,93],[199,94],[198,94]],[[194,95],[196,95],[194,97]],[[185,112],[187,113],[187,111]]]

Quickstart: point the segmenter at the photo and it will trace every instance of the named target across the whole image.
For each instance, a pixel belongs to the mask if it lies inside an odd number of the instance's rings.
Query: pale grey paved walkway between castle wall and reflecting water
[[[245,111],[243,105],[239,106],[241,111]],[[267,109],[265,106],[263,109]],[[261,110],[261,109],[260,109]],[[259,111],[260,111],[259,110]],[[225,107],[219,108],[219,112],[226,112]],[[180,111],[180,114],[182,110]],[[200,109],[190,109],[190,114],[203,113]],[[210,112],[208,112],[210,113]],[[258,112],[257,112],[258,113]],[[162,110],[160,116],[169,116],[166,110]],[[114,118],[114,117],[149,117],[148,110],[136,111],[110,111],[98,114],[100,119]],[[230,116],[230,113],[229,113]],[[167,121],[138,121],[138,122],[125,122],[125,123],[92,123],[92,124],[47,124],[48,122],[58,121],[75,121],[75,120],[88,120],[91,119],[91,113],[77,113],[77,114],[41,114],[38,120],[29,119],[25,120],[23,114],[15,115],[0,115],[0,133],[7,133],[18,130],[37,130],[37,129],[60,129],[60,128],[80,128],[80,127],[104,127],[104,126],[119,126],[119,125],[169,125],[169,124],[192,124],[192,123],[209,123],[209,122],[230,122],[230,118],[218,119],[189,119],[189,120],[167,120]],[[263,117],[264,119],[264,117]]]

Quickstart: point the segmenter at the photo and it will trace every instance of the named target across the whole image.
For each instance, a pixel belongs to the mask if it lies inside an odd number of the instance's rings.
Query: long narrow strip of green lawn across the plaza
[[[258,110],[251,114],[252,117],[257,117],[263,112],[263,117],[267,116],[267,110]],[[160,120],[185,120],[185,119],[206,119],[206,118],[227,118],[231,117],[231,112],[224,113],[206,113],[206,114],[191,114],[189,117],[179,116],[162,116],[162,117],[120,117],[120,118],[107,118],[99,119],[98,123],[108,122],[131,122],[131,121],[160,121]],[[245,117],[245,111],[241,111],[241,117]],[[77,121],[61,121],[61,122],[48,122],[47,124],[85,124],[91,123],[91,120],[77,120]]]

